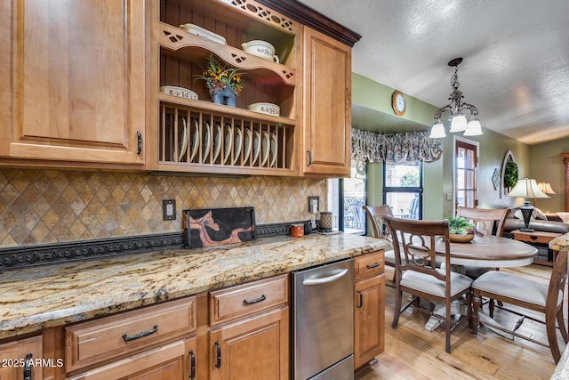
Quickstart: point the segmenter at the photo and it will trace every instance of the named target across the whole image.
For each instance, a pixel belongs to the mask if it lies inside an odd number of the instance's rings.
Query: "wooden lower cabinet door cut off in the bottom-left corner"
[[[42,366],[28,365],[29,360],[43,359],[42,336],[0,344],[0,379],[44,379]],[[29,376],[29,377],[26,377]]]

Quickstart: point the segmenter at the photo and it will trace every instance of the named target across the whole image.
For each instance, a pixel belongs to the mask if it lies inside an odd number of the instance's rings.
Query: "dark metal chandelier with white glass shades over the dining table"
[[[450,67],[454,67],[454,75],[451,78],[451,85],[453,85],[453,92],[449,95],[448,100],[451,101],[445,107],[441,107],[437,109],[435,112],[435,124],[430,130],[429,137],[432,139],[440,139],[446,137],[445,133],[445,126],[441,121],[441,117],[445,111],[449,111],[450,116],[449,120],[451,120],[451,129],[449,132],[462,132],[464,131],[465,136],[477,136],[482,134],[482,125],[478,121],[478,109],[473,106],[472,104],[465,103],[461,101],[464,96],[459,91],[459,76],[458,70],[459,65],[461,64],[462,58],[455,58],[452,61],[448,62]],[[465,110],[469,110],[470,119],[467,123],[466,115],[464,114]]]

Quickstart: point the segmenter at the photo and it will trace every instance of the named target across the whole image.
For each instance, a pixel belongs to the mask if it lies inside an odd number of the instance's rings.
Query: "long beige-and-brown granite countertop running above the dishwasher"
[[[280,236],[4,271],[0,339],[363,255],[387,240]]]

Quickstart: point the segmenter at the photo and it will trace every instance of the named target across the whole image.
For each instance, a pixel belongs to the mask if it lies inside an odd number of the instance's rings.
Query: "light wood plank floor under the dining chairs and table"
[[[386,268],[386,280],[390,281],[393,272]],[[516,271],[544,282],[551,273],[549,267],[535,264],[502,271]],[[565,303],[566,297],[565,291]],[[480,327],[478,335],[473,336],[466,323],[453,332],[452,353],[446,353],[443,327],[432,332],[424,328],[428,315],[405,311],[397,329],[391,328],[394,306],[395,289],[386,287],[385,352],[376,357],[378,362],[371,369],[358,374],[357,380],[549,379],[555,369],[549,348],[517,338],[510,341],[486,327]],[[518,319],[499,310],[494,317],[505,326],[513,326]],[[547,343],[545,327],[540,323],[525,319],[518,332]],[[561,334],[557,336],[563,352],[565,343]]]

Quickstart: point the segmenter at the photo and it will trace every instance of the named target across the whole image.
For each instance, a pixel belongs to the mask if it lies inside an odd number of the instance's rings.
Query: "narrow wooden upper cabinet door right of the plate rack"
[[[304,174],[349,176],[351,48],[304,28]]]

